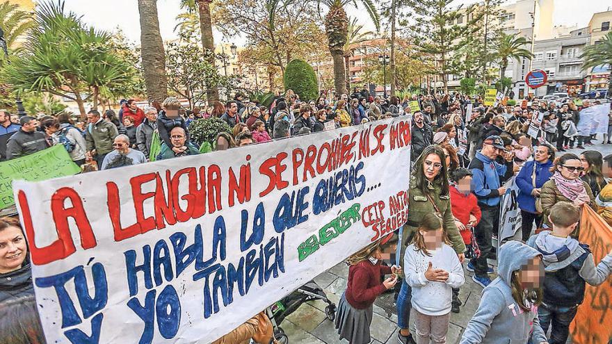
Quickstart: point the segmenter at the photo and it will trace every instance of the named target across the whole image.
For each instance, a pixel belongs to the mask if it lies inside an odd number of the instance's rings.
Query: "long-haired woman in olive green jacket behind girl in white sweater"
[[[451,211],[451,197],[449,194],[449,176],[446,169],[444,151],[437,146],[428,146],[414,163],[414,171],[410,177],[408,190],[408,221],[401,229],[401,250],[399,255],[402,271],[404,270],[403,256],[406,247],[412,240],[414,231],[417,231],[421,220],[428,213],[437,213],[442,218],[444,233],[451,240],[459,259],[465,259],[465,244],[455,224],[455,217]],[[397,298],[397,325],[398,343],[411,343],[408,323],[412,288],[404,280]]]

